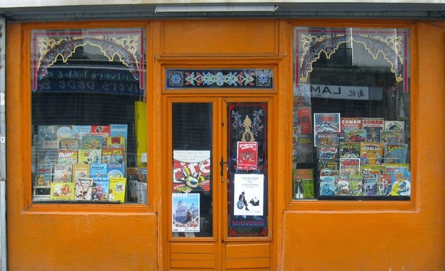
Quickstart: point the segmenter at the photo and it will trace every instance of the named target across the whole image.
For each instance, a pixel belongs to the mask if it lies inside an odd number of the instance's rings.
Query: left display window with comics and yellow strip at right
[[[31,31],[32,202],[147,203],[144,28]]]

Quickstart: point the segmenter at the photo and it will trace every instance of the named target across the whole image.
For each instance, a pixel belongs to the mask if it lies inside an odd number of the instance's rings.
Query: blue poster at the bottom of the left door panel
[[[199,194],[172,193],[172,231],[199,231]]]

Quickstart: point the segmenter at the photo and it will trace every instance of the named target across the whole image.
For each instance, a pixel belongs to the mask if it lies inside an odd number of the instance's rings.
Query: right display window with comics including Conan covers
[[[408,29],[294,29],[292,199],[410,200]]]

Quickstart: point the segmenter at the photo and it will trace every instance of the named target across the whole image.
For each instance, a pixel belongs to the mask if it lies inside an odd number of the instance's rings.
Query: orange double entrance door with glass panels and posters
[[[270,270],[269,98],[167,100],[167,270]]]

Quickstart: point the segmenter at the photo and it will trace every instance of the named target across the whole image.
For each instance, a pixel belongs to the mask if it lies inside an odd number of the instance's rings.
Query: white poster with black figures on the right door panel
[[[263,193],[263,174],[235,174],[233,215],[263,215]]]

